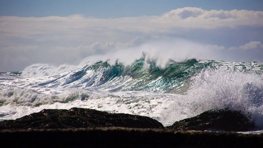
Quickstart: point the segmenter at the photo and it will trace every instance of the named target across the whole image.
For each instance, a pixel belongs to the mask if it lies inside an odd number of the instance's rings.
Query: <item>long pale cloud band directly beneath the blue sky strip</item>
[[[123,32],[171,32],[173,28],[214,29],[218,27],[263,26],[263,11],[203,10],[184,7],[161,16],[89,18],[76,14],[66,17],[0,17],[0,32],[5,36],[34,39],[77,39],[84,35],[105,33],[106,37]]]

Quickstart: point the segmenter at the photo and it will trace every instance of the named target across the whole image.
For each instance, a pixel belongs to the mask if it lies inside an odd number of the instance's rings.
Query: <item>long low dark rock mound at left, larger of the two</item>
[[[160,122],[149,117],[84,108],[44,109],[16,120],[0,122],[0,130],[96,127],[164,128]]]

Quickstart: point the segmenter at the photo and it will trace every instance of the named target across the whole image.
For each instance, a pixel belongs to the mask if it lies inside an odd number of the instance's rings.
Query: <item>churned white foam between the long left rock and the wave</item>
[[[0,120],[20,118],[34,112],[39,112],[42,109],[69,109],[71,107],[81,107],[111,113],[128,113],[148,116],[161,121],[161,113],[167,109],[167,106],[171,104],[173,98],[176,97],[176,94],[144,91],[105,92],[81,89],[49,89],[45,91],[45,93],[41,93],[41,91],[17,91],[28,97],[20,96],[17,102],[13,101],[12,96],[9,97],[12,103],[0,106]],[[13,95],[16,95],[15,93],[17,92],[15,91]],[[34,96],[34,101],[32,101],[32,96]],[[66,101],[66,99],[72,100]],[[64,101],[66,101],[66,103],[61,103]],[[29,105],[29,103],[32,105]],[[43,103],[43,105],[38,105],[41,103]]]

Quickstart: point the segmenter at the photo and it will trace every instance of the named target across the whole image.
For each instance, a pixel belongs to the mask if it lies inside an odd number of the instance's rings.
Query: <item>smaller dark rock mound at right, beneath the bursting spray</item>
[[[166,127],[173,130],[215,130],[215,131],[253,131],[256,129],[252,118],[242,111],[229,109],[209,110],[200,115],[175,122]]]

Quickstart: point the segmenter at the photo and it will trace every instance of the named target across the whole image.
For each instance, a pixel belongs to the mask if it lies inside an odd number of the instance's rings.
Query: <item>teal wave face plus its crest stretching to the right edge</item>
[[[196,59],[177,63],[170,61],[165,68],[159,68],[154,61],[146,61],[144,58],[134,61],[130,66],[124,66],[116,62],[110,65],[108,62],[98,62],[89,69],[97,73],[103,73],[100,82],[96,85],[106,86],[105,83],[114,83],[116,79],[132,77],[126,86],[118,90],[151,91],[163,93],[185,93],[191,86],[191,77],[198,75],[201,71],[213,71],[224,67],[240,71],[242,73],[262,74],[263,65],[258,63],[228,63],[222,61],[197,61]],[[123,82],[124,83],[124,82]]]

